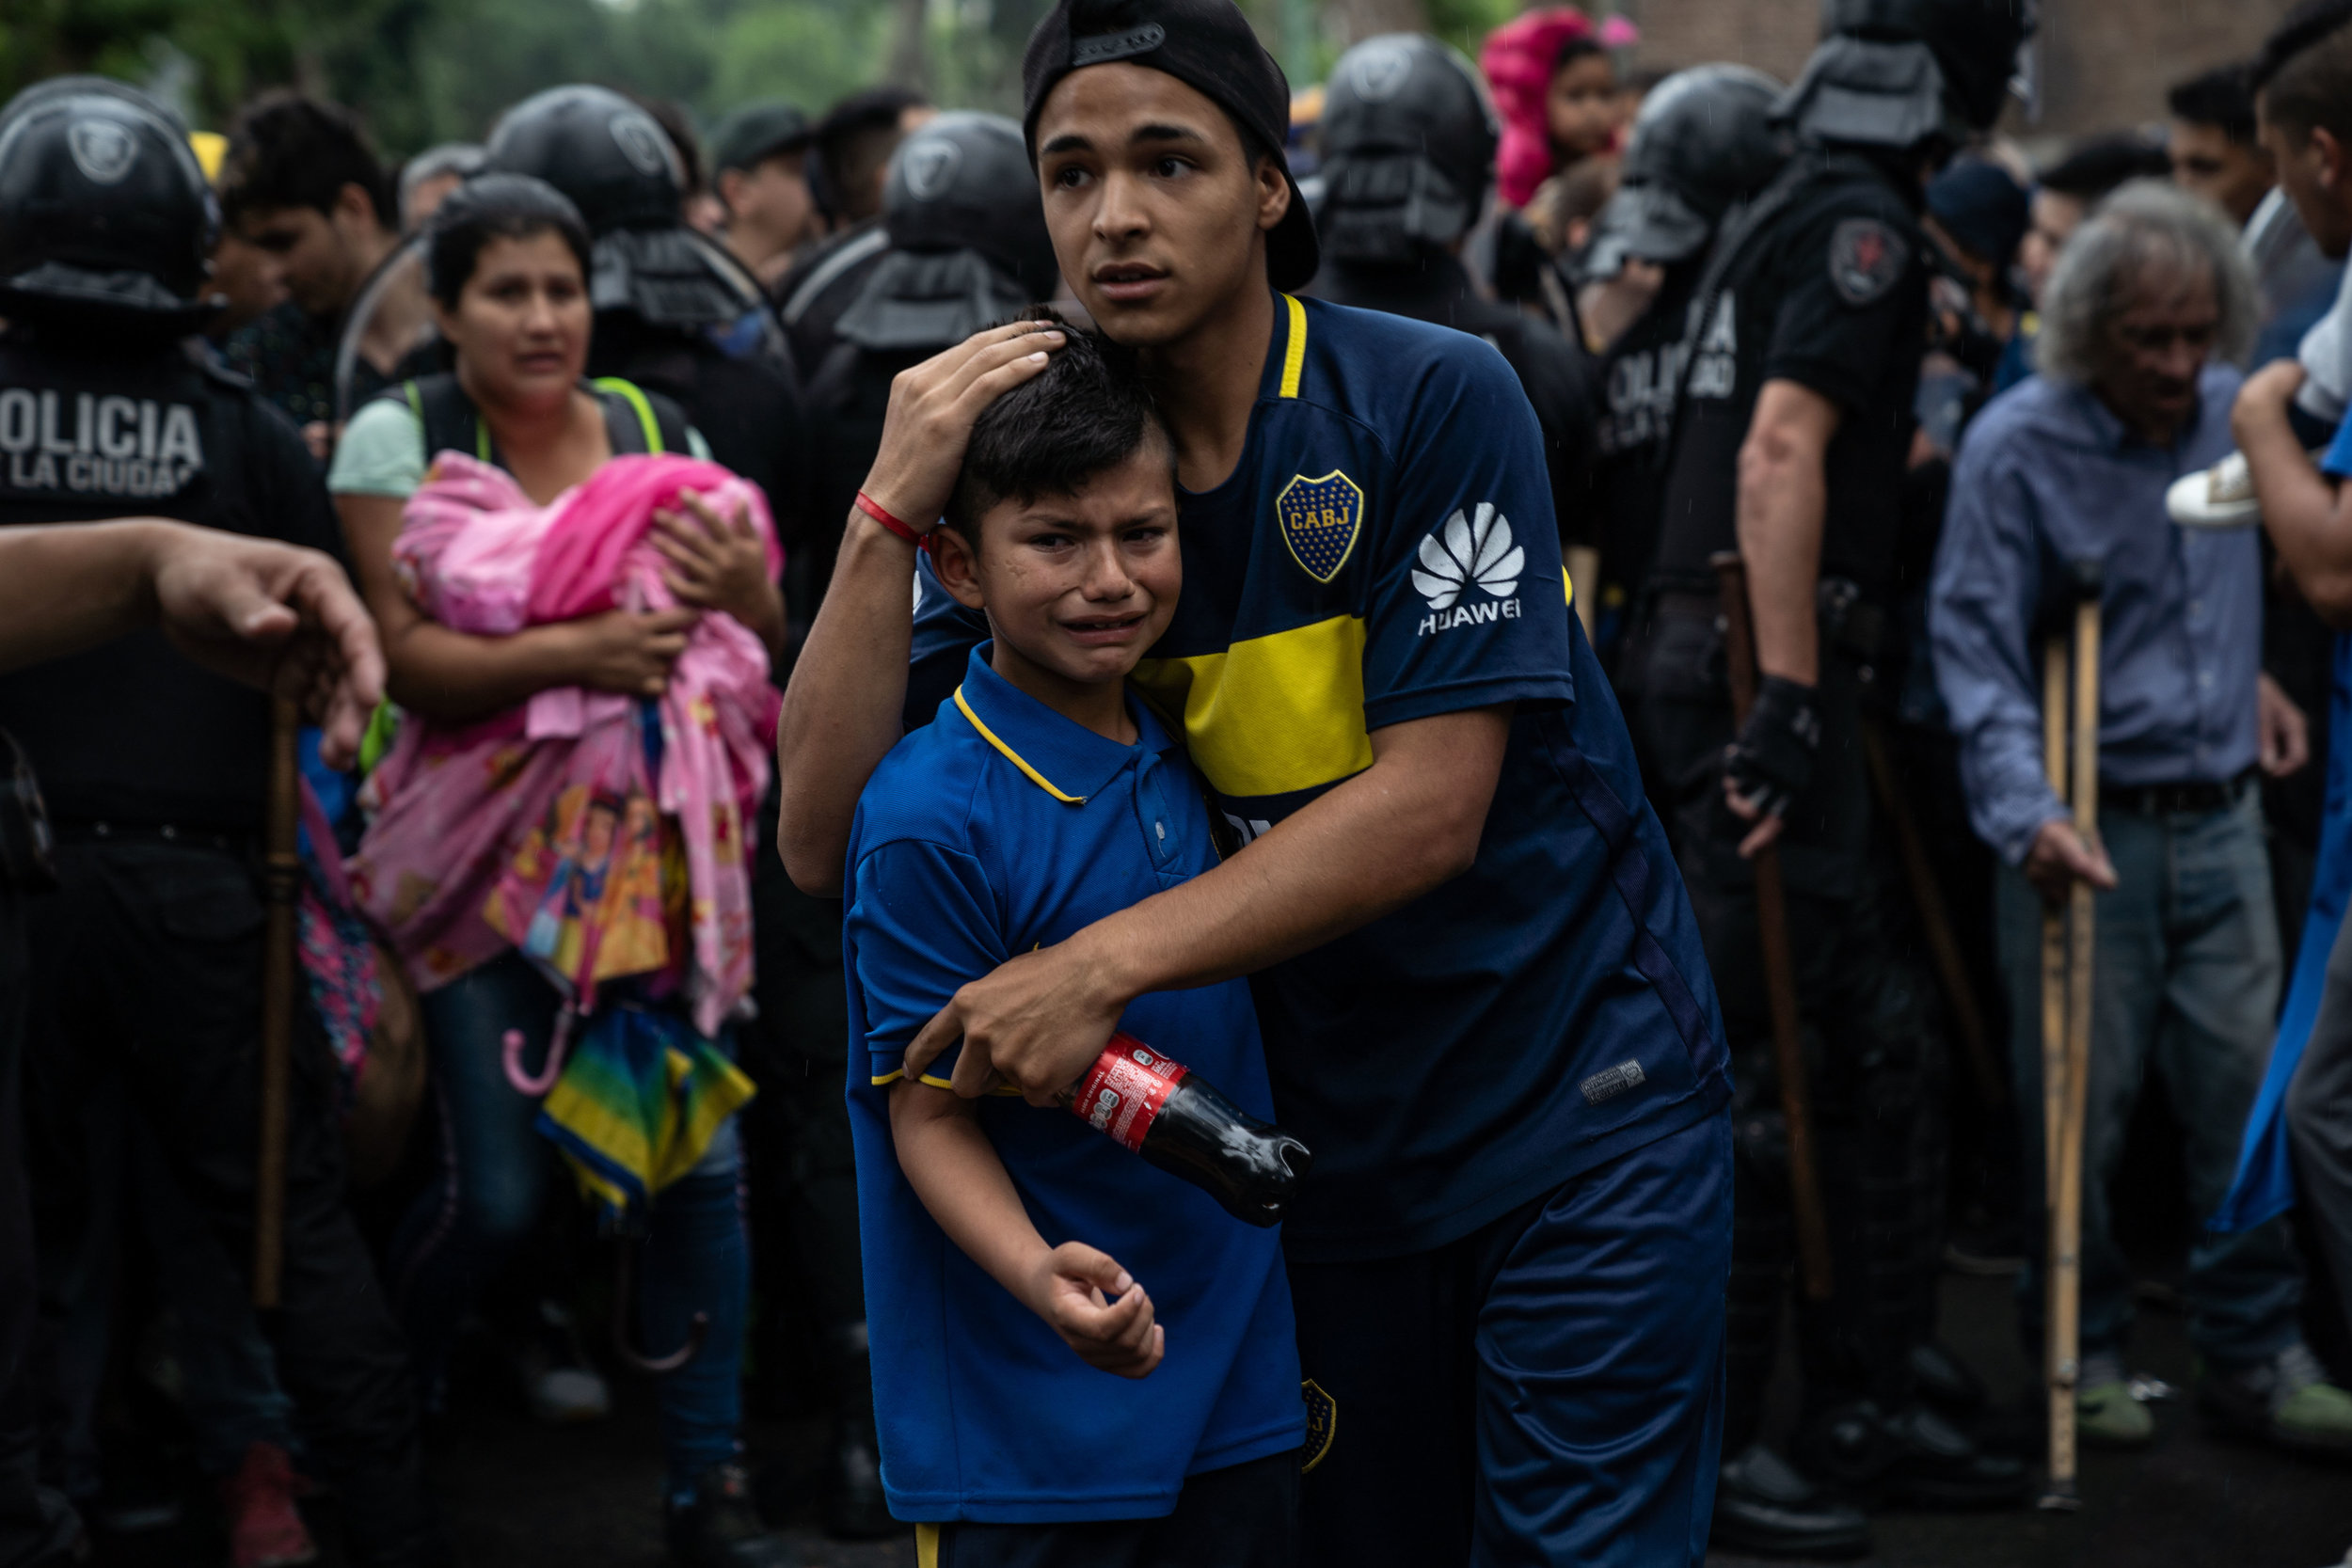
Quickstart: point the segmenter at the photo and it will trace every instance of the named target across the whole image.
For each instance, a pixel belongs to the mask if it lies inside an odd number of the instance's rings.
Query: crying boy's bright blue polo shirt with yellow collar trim
[[[910,1521],[1155,1519],[1188,1474],[1305,1434],[1279,1232],[1230,1218],[1065,1110],[981,1103],[1047,1244],[1084,1241],[1152,1295],[1167,1359],[1094,1371],[948,1241],[889,1131],[906,1044],[960,985],[1216,863],[1183,750],[1136,701],[1117,745],[1016,691],[974,649],[938,717],[858,802],[842,889],[858,1234],[882,1488]],[[1272,1117],[1242,980],[1138,997],[1120,1020],[1256,1117]],[[946,1084],[957,1051],[924,1074]],[[851,1063],[858,1058],[851,1056]]]

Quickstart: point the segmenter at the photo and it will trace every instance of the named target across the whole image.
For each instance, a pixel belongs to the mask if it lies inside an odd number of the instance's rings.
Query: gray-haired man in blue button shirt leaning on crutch
[[[2147,1067],[2187,1121],[2187,1187],[2211,1213],[2270,1056],[2279,931],[2256,764],[2303,741],[2260,679],[2260,552],[2251,531],[2185,531],[2164,489],[2230,449],[2230,360],[2253,336],[2253,280],[2220,214],[2178,190],[2119,190],[2074,235],[2042,301],[2042,374],[1969,430],[1936,557],[1938,684],[1962,743],[1978,835],[2016,867],[1999,886],[2011,1039],[2039,1037],[2039,900],[2103,889],[2084,1150],[2079,1392],[2086,1443],[2154,1427],[2124,1387],[2131,1274],[2105,1185]],[[2044,571],[2105,569],[2100,827],[2086,844],[2042,771],[2032,628]],[[2027,1192],[2042,1190],[2042,1063],[2013,1051]],[[2037,1269],[2020,1281],[2039,1342]],[[2190,1248],[2190,1338],[2220,1425],[2352,1448],[2352,1394],[2298,1331],[2303,1269],[2281,1222]]]

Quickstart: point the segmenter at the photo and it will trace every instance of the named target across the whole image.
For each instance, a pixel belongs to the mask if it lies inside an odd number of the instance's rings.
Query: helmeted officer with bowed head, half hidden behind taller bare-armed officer
[[[1592,651],[1628,712],[1639,689],[1632,621],[1658,545],[1691,294],[1724,212],[1788,162],[1788,136],[1771,125],[1778,96],[1780,85],[1748,66],[1693,66],[1658,82],[1632,125],[1623,183],[1578,266],[1581,317],[1588,343],[1599,346],[1602,388]]]

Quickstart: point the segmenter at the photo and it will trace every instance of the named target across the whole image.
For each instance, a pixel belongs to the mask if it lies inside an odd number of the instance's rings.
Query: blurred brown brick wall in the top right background
[[[2020,136],[2145,125],[2164,118],[2164,89],[2244,59],[2291,0],[2044,0],[2042,120],[2011,118]],[[1736,59],[1783,80],[1811,54],[1818,0],[1625,0],[1642,24],[1639,63],[1696,66]]]

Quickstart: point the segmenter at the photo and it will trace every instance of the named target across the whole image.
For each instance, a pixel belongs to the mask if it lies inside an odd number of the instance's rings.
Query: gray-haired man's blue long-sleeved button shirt
[[[1959,447],[1929,630],[1978,837],[2011,865],[2067,816],[2042,771],[2042,621],[2065,562],[2105,571],[2098,773],[2223,783],[2253,766],[2263,665],[2256,529],[2183,529],[2164,489],[2230,454],[2239,374],[2209,364],[2197,414],[2147,447],[2086,388],[2018,383]]]

